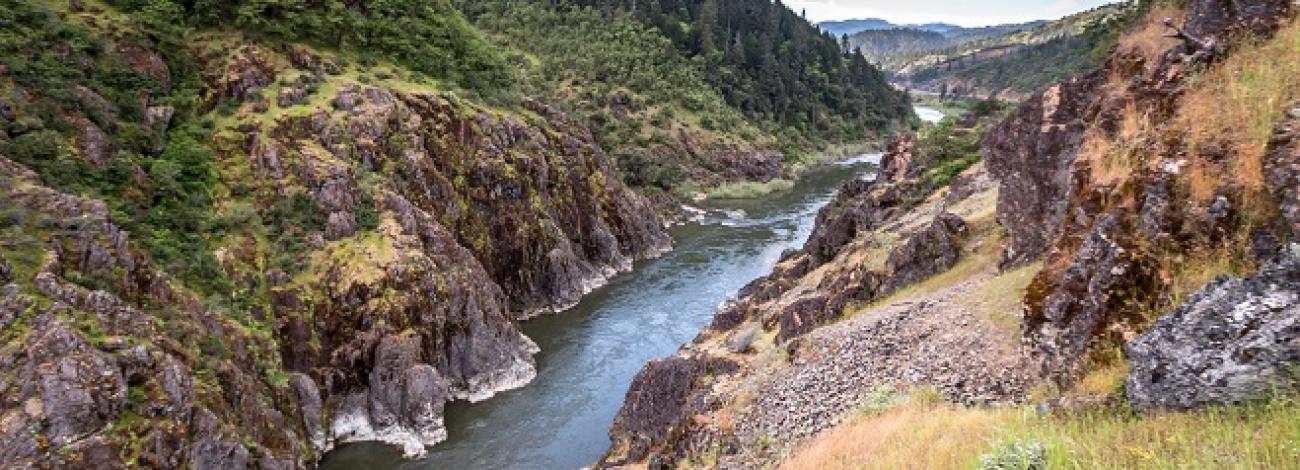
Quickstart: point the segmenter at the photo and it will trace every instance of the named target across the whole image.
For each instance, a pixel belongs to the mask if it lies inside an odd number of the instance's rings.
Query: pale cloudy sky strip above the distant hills
[[[885,18],[898,23],[949,22],[984,26],[1054,19],[1113,0],[785,0],[814,22],[850,18]]]

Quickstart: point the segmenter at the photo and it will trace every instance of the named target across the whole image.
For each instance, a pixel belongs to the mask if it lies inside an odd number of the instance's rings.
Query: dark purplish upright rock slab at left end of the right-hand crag
[[[1040,258],[1060,235],[1071,166],[1104,82],[1102,74],[1093,73],[1054,84],[985,135],[982,153],[1001,183],[997,219],[1008,231],[1004,267]]]

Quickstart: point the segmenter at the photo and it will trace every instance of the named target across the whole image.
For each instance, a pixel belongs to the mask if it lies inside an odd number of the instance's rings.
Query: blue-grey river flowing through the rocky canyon
[[[918,109],[927,122],[933,113]],[[941,118],[942,114],[939,114]],[[816,212],[850,178],[868,178],[879,155],[807,171],[794,190],[767,197],[711,201],[699,223],[671,230],[673,251],[588,295],[559,315],[525,322],[542,348],[537,379],[478,402],[447,405],[447,441],[421,460],[393,448],[343,445],[326,470],[575,469],[594,464],[608,427],[641,366],[673,353],[712,319],[714,310],[766,275],[781,252],[803,244]]]

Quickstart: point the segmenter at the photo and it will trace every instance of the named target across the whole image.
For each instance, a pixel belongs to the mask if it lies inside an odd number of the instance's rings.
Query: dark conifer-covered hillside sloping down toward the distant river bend
[[[580,0],[630,14],[702,68],[725,103],[781,145],[862,140],[911,116],[905,93],[780,3],[766,0]],[[792,153],[792,152],[785,152]]]

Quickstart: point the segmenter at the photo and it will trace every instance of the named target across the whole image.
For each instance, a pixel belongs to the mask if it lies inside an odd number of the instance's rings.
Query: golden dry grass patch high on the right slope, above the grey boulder
[[[1204,166],[1197,178],[1226,179],[1249,191],[1262,188],[1269,136],[1297,101],[1300,25],[1292,22],[1271,40],[1236,49],[1183,97],[1176,126],[1191,153],[1202,161],[1216,160],[1206,153],[1227,156],[1222,169]]]

